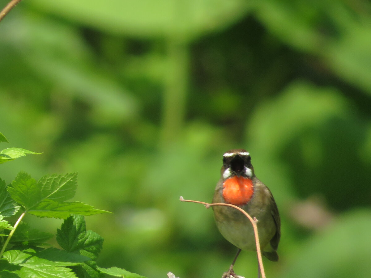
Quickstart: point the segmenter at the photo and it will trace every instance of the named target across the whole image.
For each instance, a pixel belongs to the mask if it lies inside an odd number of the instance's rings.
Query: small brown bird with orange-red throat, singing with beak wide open
[[[278,261],[281,221],[278,208],[269,188],[255,176],[250,153],[244,149],[229,150],[223,155],[221,177],[216,185],[213,203],[239,206],[256,218],[260,249],[270,261]],[[241,250],[256,251],[255,235],[249,219],[235,208],[213,206],[214,218],[220,233],[238,248],[236,257],[222,278],[237,277],[234,263]],[[258,277],[260,269],[258,268]]]

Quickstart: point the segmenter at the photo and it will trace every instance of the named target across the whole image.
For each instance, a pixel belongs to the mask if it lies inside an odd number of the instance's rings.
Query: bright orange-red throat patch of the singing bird
[[[253,193],[253,181],[249,178],[233,176],[223,183],[223,198],[232,205],[249,202]]]

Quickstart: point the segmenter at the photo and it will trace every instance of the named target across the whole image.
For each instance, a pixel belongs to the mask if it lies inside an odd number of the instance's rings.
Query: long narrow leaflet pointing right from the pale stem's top
[[[79,215],[96,215],[103,213],[111,213],[102,209],[95,209],[93,206],[82,202],[56,202],[53,200],[45,199],[36,205],[34,208],[29,209],[30,214],[39,217],[54,217],[59,219],[66,219],[71,214]]]

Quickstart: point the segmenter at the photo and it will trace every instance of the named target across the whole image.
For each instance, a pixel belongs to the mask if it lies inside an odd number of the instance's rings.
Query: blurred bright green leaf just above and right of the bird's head
[[[276,99],[262,103],[250,119],[249,139],[272,155],[300,130],[317,126],[347,112],[336,89],[301,80],[292,82]],[[278,116],[279,115],[279,116]],[[274,138],[274,140],[272,140]]]

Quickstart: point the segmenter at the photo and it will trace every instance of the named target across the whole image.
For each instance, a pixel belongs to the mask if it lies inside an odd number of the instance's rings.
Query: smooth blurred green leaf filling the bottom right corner
[[[370,209],[340,215],[324,231],[296,246],[278,277],[368,277]]]

